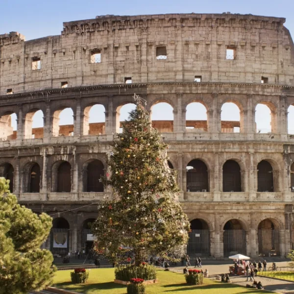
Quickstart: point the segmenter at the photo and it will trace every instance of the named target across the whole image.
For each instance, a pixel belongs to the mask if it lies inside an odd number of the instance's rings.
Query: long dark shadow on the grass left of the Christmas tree
[[[73,286],[73,287],[67,287]],[[109,290],[109,289],[118,289],[118,288],[126,288],[125,285],[116,284],[114,282],[105,282],[105,283],[85,283],[85,284],[73,284],[72,282],[63,282],[63,283],[56,283],[54,287],[67,289],[67,290],[90,290],[90,289],[97,289],[97,290]]]

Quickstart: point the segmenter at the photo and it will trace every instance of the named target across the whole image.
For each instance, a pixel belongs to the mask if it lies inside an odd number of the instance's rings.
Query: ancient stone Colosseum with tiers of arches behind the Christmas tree
[[[294,43],[284,23],[107,15],[41,39],[0,35],[0,175],[22,204],[52,216],[43,247],[91,248],[89,223],[111,194],[98,179],[136,93],[178,172],[192,226],[187,252],[285,256],[294,247]],[[239,121],[222,117],[227,103]],[[266,131],[257,127],[260,105],[269,110]]]

